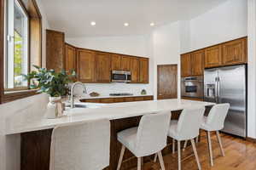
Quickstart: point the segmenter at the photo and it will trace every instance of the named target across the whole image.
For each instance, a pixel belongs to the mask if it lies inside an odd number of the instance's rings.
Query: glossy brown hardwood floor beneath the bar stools
[[[212,151],[214,166],[210,167],[209,152],[207,148],[206,133],[202,133],[201,142],[196,144],[196,149],[201,161],[202,169],[211,170],[255,170],[256,169],[256,144],[232,137],[221,133],[221,139],[224,144],[225,156],[221,156],[218,146],[218,140],[215,134],[212,133]],[[189,145],[185,151],[182,151],[182,169],[196,170],[197,165],[192,147]],[[164,156],[166,170],[177,169],[177,152]],[[134,168],[132,170],[136,170]],[[150,161],[144,163],[143,170],[160,170],[160,163]]]

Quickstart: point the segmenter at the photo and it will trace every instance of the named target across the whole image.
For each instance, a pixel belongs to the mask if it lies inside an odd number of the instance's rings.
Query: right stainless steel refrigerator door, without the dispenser
[[[223,132],[246,137],[246,68],[245,65],[218,69],[218,103],[230,103]]]

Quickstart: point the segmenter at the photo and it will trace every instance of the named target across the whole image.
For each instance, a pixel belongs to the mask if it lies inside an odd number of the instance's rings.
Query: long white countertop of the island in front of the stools
[[[81,105],[92,105],[79,103]],[[131,116],[142,116],[159,111],[178,111],[192,105],[214,105],[213,103],[192,101],[186,99],[162,99],[151,101],[137,101],[127,103],[114,103],[108,105],[96,104],[98,108],[74,108],[67,110],[66,116],[56,119],[40,118],[37,121],[21,123],[19,126],[9,125],[6,134],[26,133],[37,130],[54,128],[57,125],[70,124],[73,122],[86,122],[96,119],[107,118],[109,120],[122,119]],[[93,106],[93,105],[92,105]]]

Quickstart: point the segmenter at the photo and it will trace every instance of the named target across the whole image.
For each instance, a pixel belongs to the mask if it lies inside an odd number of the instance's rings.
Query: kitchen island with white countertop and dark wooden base
[[[184,108],[195,105],[211,107],[213,103],[191,101],[184,99],[163,99],[154,101],[140,101],[117,103],[108,105],[88,105],[88,108],[67,109],[66,116],[57,119],[40,118],[34,122],[11,125],[6,128],[6,134],[20,133],[20,169],[21,170],[47,170],[49,169],[49,147],[52,129],[58,125],[73,122],[86,122],[107,118],[111,122],[110,164],[106,169],[116,169],[121,144],[117,140],[117,133],[129,127],[137,126],[141,116],[160,111],[172,111],[178,114]],[[172,116],[173,118],[173,116]],[[171,140],[168,141],[171,143]],[[163,150],[163,154],[170,152],[170,147]],[[137,165],[137,160],[130,151],[125,152],[122,169],[129,169]],[[150,156],[145,161],[150,160]],[[86,161],[86,160],[84,160]]]

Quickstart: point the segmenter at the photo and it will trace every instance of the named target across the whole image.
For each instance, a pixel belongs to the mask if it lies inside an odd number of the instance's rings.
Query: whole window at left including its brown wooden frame
[[[0,22],[1,104],[37,94],[21,74],[42,66],[42,15],[36,0],[0,0]]]

